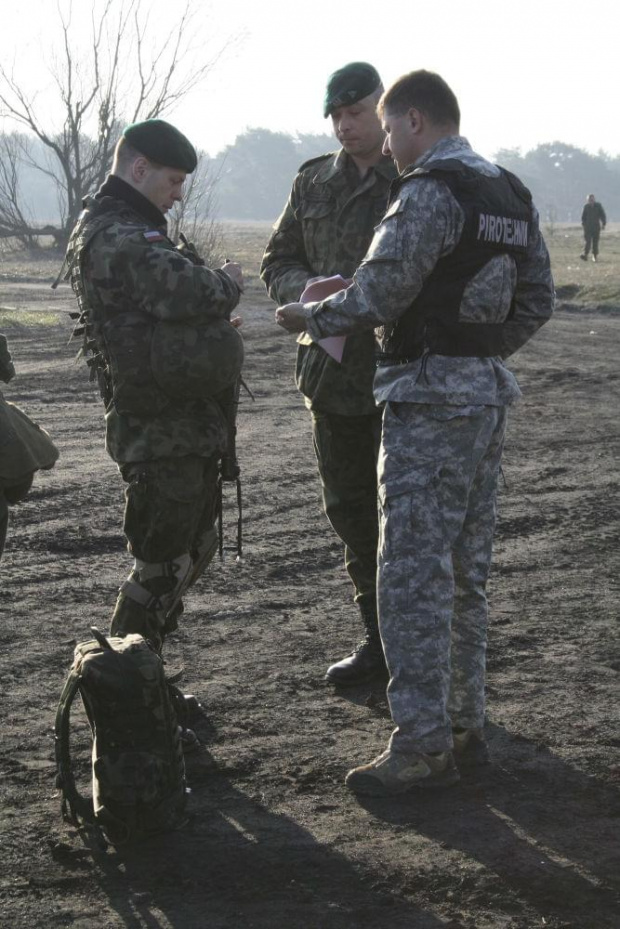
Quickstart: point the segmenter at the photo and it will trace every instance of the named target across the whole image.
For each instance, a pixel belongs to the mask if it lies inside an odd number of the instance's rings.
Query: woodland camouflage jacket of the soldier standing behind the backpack
[[[191,331],[209,318],[228,319],[239,302],[234,282],[177,250],[163,215],[116,177],[85,201],[66,260],[82,311],[84,348],[93,353],[89,363],[106,405],[110,456],[125,463],[221,454],[226,423],[220,404],[165,394],[151,350],[162,321]],[[175,344],[182,347],[182,340]]]

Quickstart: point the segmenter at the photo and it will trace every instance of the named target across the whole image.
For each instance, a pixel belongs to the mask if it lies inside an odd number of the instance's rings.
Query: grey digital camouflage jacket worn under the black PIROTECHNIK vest
[[[423,175],[425,167],[440,159],[458,159],[489,176],[499,173],[460,136],[441,139],[414,168]],[[406,181],[377,228],[353,286],[306,305],[308,333],[321,339],[401,317],[439,259],[456,247],[463,227],[463,210],[444,181],[423,176]],[[527,253],[518,267],[509,255],[493,258],[469,282],[463,301],[469,313],[477,308],[485,321],[503,323],[502,357],[517,351],[547,322],[553,312],[553,279],[535,209]],[[377,403],[503,406],[519,395],[516,379],[501,357],[425,354],[409,363],[381,366],[375,377]]]

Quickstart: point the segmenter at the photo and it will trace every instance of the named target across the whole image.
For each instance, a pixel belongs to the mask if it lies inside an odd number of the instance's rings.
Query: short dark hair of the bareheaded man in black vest
[[[415,107],[438,126],[452,123],[457,128],[461,111],[453,91],[433,71],[411,71],[392,84],[379,102],[379,112],[403,116]]]

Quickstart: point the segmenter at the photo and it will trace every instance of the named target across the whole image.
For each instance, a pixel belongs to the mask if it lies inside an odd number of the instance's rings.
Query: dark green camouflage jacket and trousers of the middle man
[[[269,295],[295,302],[313,277],[353,276],[382,218],[396,169],[383,158],[360,178],[344,151],[306,162],[293,182],[261,266]],[[342,363],[300,344],[296,383],[312,413],[325,511],[345,545],[362,614],[376,611],[376,456],[381,419],[372,383],[372,332],[347,338]]]

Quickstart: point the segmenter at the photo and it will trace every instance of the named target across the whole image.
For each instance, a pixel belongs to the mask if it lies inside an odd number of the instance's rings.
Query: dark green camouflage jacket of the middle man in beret
[[[352,277],[395,177],[392,160],[384,158],[360,179],[342,150],[302,165],[261,265],[270,297],[291,303],[311,277]],[[339,364],[318,346],[300,344],[296,381],[308,406],[348,416],[374,413],[375,347],[372,332],[356,333]]]

